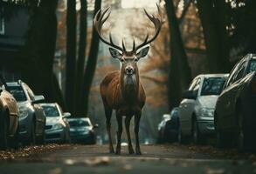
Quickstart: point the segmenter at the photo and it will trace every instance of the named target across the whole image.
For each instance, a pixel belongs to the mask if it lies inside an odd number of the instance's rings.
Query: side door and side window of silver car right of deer
[[[198,84],[200,84],[200,77],[196,77],[190,84],[189,90],[197,92]],[[190,134],[190,112],[195,105],[195,100],[184,98],[179,106],[179,119],[183,135]]]

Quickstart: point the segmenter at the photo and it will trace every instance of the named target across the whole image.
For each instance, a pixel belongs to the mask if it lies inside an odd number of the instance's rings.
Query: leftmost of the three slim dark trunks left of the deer
[[[67,0],[66,10],[66,106],[73,112],[76,72],[76,1]]]

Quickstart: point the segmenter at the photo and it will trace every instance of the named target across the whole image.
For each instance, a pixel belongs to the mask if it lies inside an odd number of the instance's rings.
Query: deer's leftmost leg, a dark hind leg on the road
[[[114,147],[113,147],[112,137],[111,137],[112,108],[108,107],[107,104],[104,104],[104,110],[105,110],[105,116],[106,116],[107,134],[108,134],[108,142],[109,142],[109,153],[114,153]]]

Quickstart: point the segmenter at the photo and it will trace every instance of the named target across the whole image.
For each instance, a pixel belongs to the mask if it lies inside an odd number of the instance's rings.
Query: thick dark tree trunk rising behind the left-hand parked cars
[[[59,84],[52,88],[57,5],[58,0],[52,0],[50,3],[41,0],[39,6],[31,10],[31,25],[20,64],[24,81],[35,93],[44,95],[46,102],[58,102],[65,108],[63,98],[55,95],[59,90]]]

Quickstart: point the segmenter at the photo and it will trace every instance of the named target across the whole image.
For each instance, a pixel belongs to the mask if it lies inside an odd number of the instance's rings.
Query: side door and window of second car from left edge
[[[28,96],[31,99],[31,102],[34,101],[35,95],[34,95],[33,91],[31,90],[31,88],[26,84],[24,84],[24,88],[27,91]],[[45,113],[40,104],[32,104],[32,106],[35,110],[35,116],[36,116],[36,120],[37,120],[36,134],[41,135],[45,132]]]

